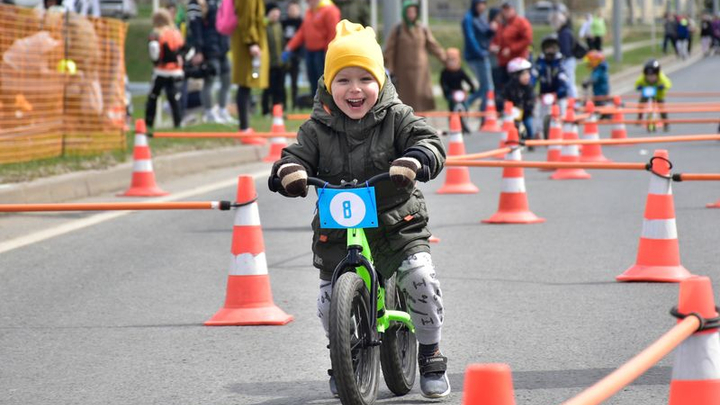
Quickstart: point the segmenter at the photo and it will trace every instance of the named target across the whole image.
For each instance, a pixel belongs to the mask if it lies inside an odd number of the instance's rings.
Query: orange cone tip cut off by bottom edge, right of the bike
[[[462,405],[515,405],[507,364],[471,364],[465,370]]]

